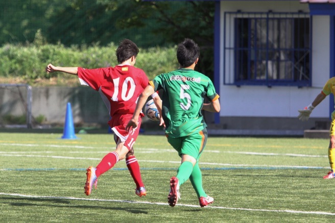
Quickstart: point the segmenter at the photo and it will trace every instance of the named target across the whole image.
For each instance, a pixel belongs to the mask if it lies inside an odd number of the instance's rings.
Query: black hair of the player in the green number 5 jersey
[[[184,39],[178,44],[177,60],[182,67],[192,65],[199,58],[199,46],[192,39]]]

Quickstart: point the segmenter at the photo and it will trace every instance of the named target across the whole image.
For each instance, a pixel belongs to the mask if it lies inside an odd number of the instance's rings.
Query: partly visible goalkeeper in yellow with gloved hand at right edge
[[[329,94],[335,95],[335,77],[330,78],[326,84],[324,85],[322,91],[316,96],[315,100],[312,104],[305,107],[303,110],[298,110],[299,115],[298,118],[302,121],[307,121],[310,113],[312,113],[313,109],[319,105],[324,98],[326,98]],[[335,102],[335,98],[334,98]],[[331,125],[329,129],[329,147],[328,147],[328,159],[330,164],[330,171],[327,173],[323,179],[332,179],[334,178],[334,169],[335,169],[335,110],[331,113]]]

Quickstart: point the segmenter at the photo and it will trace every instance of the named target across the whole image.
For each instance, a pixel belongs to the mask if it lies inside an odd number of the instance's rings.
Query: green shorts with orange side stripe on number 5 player
[[[194,157],[198,162],[207,142],[207,129],[205,128],[200,132],[189,136],[172,138],[169,135],[166,135],[166,138],[178,152],[180,157],[182,154],[186,154]]]

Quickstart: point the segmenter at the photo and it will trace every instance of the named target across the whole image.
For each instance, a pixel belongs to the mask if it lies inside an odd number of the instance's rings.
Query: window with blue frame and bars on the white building
[[[309,13],[226,12],[224,84],[310,86]]]

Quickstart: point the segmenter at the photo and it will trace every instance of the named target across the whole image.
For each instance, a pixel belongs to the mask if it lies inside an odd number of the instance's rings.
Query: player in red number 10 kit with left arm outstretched
[[[90,195],[93,184],[97,187],[98,178],[115,163],[126,157],[126,164],[136,184],[135,193],[138,196],[147,194],[141,179],[138,162],[134,156],[133,145],[139,133],[141,117],[139,115],[137,128],[126,131],[128,121],[132,118],[136,108],[139,94],[147,87],[149,79],[146,73],[134,67],[136,56],[139,52],[137,45],[124,39],[116,49],[116,57],[119,65],[96,69],[85,69],[81,67],[58,67],[52,64],[46,66],[46,72],[65,72],[77,75],[82,85],[88,85],[98,91],[103,98],[111,119],[108,125],[114,132],[116,143],[115,151],[108,153],[96,166],[87,168],[87,179],[85,183],[85,194]],[[155,103],[161,103],[157,93],[152,95]]]

